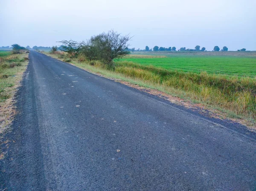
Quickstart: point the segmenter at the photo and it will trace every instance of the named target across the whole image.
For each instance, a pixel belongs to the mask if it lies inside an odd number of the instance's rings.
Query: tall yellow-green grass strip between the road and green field
[[[60,56],[58,55],[58,58]],[[81,60],[81,59],[80,59]],[[73,59],[73,64],[88,64]],[[108,70],[119,76],[141,81],[166,93],[197,101],[205,106],[226,110],[247,121],[256,122],[256,79],[207,72],[183,72],[153,66],[135,64],[131,61],[116,61],[105,67],[99,61],[93,66]],[[234,115],[233,115],[234,116]]]

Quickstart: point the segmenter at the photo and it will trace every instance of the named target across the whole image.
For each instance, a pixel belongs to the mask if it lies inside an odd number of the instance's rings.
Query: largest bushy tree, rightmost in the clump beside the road
[[[96,46],[98,58],[104,61],[105,64],[112,64],[113,59],[130,54],[130,51],[127,49],[130,39],[129,35],[122,36],[110,30],[108,33],[103,32],[92,37],[91,42],[93,46]]]

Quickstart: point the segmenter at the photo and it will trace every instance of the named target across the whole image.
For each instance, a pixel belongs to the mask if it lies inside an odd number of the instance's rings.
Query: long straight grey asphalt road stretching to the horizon
[[[256,136],[31,51],[0,188],[256,188]],[[6,146],[6,145],[2,145]]]

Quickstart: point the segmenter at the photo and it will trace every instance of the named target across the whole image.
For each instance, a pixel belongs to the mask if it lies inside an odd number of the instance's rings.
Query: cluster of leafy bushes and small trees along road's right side
[[[103,32],[92,36],[90,39],[82,42],[73,40],[58,41],[62,45],[59,48],[52,46],[51,52],[56,52],[60,49],[67,52],[70,58],[77,58],[81,55],[87,58],[90,64],[93,64],[92,61],[99,60],[104,64],[111,65],[113,59],[130,54],[128,49],[128,41],[130,39],[129,35],[121,35],[110,30],[107,33]]]

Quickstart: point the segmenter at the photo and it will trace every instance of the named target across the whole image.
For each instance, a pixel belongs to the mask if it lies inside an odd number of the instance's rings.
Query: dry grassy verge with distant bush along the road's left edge
[[[28,63],[28,51],[17,44],[12,51],[0,51],[0,134],[15,113],[13,96]]]

